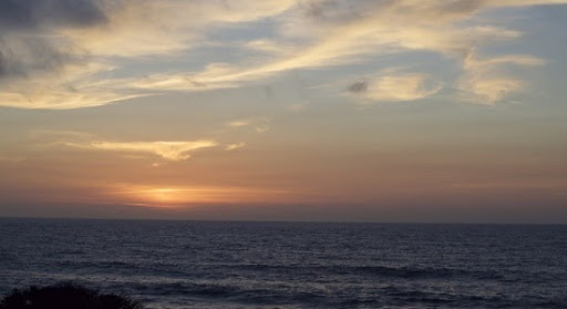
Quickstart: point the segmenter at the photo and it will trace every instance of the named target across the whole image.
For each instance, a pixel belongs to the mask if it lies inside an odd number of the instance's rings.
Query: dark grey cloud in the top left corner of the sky
[[[112,1],[118,4],[120,0]],[[105,24],[106,0],[0,0],[0,79],[56,72],[84,60],[62,29]],[[83,55],[81,55],[83,54]]]

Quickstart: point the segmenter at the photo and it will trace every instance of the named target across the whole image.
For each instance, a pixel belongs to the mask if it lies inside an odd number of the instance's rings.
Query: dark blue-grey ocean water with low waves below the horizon
[[[0,219],[0,293],[147,308],[567,308],[567,226]]]

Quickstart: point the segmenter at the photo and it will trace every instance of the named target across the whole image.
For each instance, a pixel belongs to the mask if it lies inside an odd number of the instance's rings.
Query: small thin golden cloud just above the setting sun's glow
[[[192,142],[107,142],[92,141],[86,143],[64,143],[66,146],[110,151],[122,153],[146,153],[161,156],[165,159],[182,161],[190,157],[190,153],[197,150],[217,146],[218,143],[212,140],[199,140]]]

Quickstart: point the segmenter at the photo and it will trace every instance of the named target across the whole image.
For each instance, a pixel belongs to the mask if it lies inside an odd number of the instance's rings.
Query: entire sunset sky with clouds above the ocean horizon
[[[0,216],[567,223],[567,0],[2,0]]]

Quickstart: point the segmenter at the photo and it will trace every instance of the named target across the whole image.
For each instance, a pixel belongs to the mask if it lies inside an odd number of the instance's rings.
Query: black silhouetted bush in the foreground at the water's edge
[[[0,301],[0,309],[143,309],[124,296],[100,293],[74,284],[58,284],[13,290]]]

